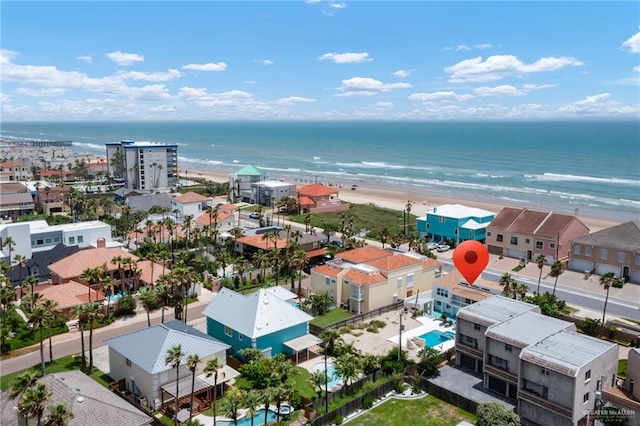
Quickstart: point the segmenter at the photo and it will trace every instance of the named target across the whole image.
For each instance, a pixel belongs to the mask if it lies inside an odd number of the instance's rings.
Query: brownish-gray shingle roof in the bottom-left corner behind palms
[[[44,383],[53,392],[47,406],[65,403],[74,414],[70,426],[142,426],[151,424],[153,419],[138,410],[126,400],[110,392],[86,374],[74,370],[44,376],[38,382]],[[8,391],[0,394],[0,424],[17,426],[18,417],[13,407],[16,400],[9,400]],[[43,424],[49,413],[45,409]]]

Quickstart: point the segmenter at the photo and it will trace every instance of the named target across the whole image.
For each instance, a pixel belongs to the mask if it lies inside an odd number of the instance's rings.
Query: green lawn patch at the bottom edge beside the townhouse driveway
[[[390,399],[350,421],[349,426],[455,426],[466,420],[475,424],[476,416],[427,395],[420,399]]]

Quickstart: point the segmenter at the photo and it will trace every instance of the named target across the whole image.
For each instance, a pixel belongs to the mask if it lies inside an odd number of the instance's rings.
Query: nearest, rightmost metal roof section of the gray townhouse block
[[[581,367],[610,350],[617,352],[617,345],[563,330],[524,348],[520,359],[576,377]]]

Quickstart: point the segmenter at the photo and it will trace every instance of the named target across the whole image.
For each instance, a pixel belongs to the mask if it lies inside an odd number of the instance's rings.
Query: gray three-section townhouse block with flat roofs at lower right
[[[587,425],[614,387],[618,347],[535,305],[493,296],[458,312],[456,364],[516,402],[524,425]]]

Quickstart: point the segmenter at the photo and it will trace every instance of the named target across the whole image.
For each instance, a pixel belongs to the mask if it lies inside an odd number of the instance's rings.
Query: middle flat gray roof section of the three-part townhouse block
[[[575,325],[537,312],[525,312],[489,327],[485,336],[524,348],[568,328],[575,330]]]

